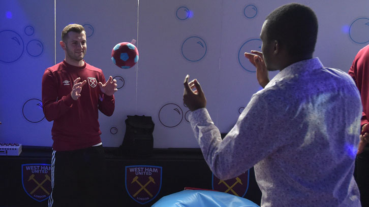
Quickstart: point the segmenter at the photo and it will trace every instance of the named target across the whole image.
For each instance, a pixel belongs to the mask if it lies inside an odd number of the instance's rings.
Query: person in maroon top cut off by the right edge
[[[360,191],[362,206],[369,206],[369,45],[356,55],[349,75],[354,79],[360,91],[362,103],[361,135],[355,160],[355,180]]]

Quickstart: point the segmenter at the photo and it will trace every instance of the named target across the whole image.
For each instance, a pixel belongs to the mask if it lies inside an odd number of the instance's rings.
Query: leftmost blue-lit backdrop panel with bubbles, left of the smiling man
[[[0,1],[0,142],[51,146],[41,79],[54,62],[54,2]]]

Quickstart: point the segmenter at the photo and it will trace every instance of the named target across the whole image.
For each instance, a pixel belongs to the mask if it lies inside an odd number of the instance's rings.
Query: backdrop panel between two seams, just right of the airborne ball
[[[200,81],[217,113],[221,3],[140,1],[137,113],[152,116],[156,148],[198,147],[182,101],[186,74]]]

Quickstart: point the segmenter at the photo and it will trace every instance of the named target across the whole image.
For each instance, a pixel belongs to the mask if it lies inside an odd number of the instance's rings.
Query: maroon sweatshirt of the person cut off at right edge
[[[361,126],[368,123],[369,114],[369,45],[362,48],[350,67],[349,75],[360,91],[362,103]]]

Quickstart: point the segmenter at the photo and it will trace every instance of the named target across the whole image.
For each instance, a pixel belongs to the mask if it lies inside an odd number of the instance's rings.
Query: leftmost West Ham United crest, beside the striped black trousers
[[[22,185],[29,197],[46,200],[51,193],[50,164],[22,164]]]

